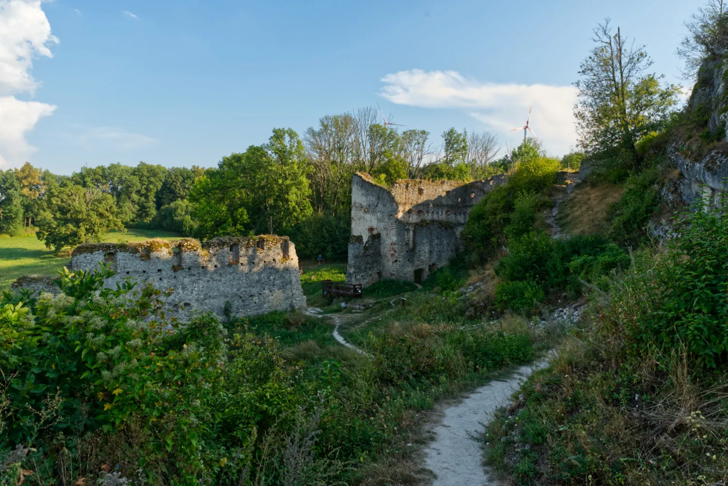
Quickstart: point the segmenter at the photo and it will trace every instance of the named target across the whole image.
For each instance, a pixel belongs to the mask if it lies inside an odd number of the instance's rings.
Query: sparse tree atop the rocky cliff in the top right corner
[[[678,47],[678,55],[685,60],[687,78],[697,76],[705,61],[721,60],[728,50],[728,5],[724,0],[708,0],[685,23],[689,35]]]

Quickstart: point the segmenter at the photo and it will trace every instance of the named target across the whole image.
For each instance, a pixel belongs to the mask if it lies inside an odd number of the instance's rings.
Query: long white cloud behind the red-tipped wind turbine
[[[474,119],[499,132],[509,146],[517,145],[533,105],[530,126],[555,155],[566,154],[576,141],[571,86],[495,84],[466,79],[457,71],[399,71],[381,79],[381,96],[392,103],[422,108],[463,108]]]

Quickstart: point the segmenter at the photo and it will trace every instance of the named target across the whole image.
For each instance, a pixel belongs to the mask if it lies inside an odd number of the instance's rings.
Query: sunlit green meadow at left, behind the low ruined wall
[[[142,242],[150,238],[174,238],[169,231],[129,229],[125,233],[111,231],[104,242]],[[56,255],[36,238],[35,231],[22,236],[0,237],[0,289],[21,275],[55,275],[71,260],[70,254]]]

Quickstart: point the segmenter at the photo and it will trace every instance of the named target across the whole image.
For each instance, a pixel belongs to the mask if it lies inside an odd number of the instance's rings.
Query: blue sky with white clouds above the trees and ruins
[[[675,54],[702,0],[0,0],[0,169],[140,161],[212,167],[379,103],[430,132],[526,122],[568,153],[579,63],[605,17],[686,84]]]

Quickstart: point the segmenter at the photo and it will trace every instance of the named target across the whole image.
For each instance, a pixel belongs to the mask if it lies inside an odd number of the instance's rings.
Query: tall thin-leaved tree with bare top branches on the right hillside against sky
[[[579,144],[587,154],[625,151],[639,170],[635,143],[665,122],[680,87],[662,87],[663,76],[646,73],[652,59],[644,47],[628,43],[620,28],[612,33],[609,19],[593,32],[597,46],[582,61],[581,79],[574,83]]]

